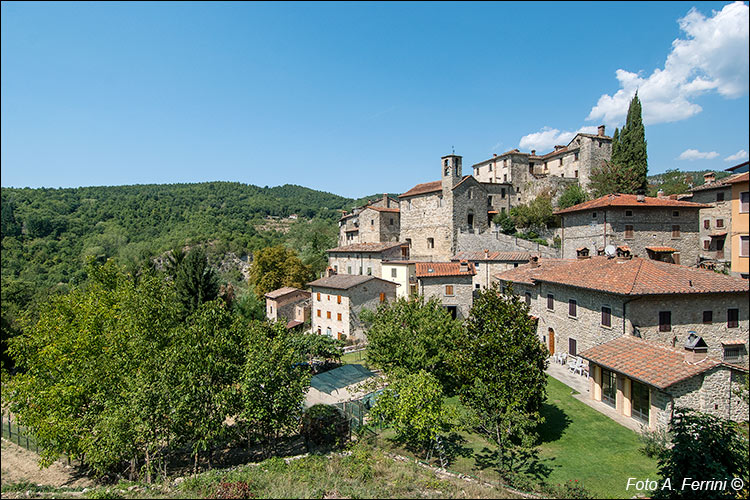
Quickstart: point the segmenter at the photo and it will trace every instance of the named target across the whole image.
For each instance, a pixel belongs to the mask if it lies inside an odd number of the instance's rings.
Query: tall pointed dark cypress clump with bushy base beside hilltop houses
[[[609,162],[592,169],[590,189],[595,196],[611,193],[635,194],[648,189],[646,131],[641,117],[641,101],[635,93],[628,107],[625,126],[615,130]]]

